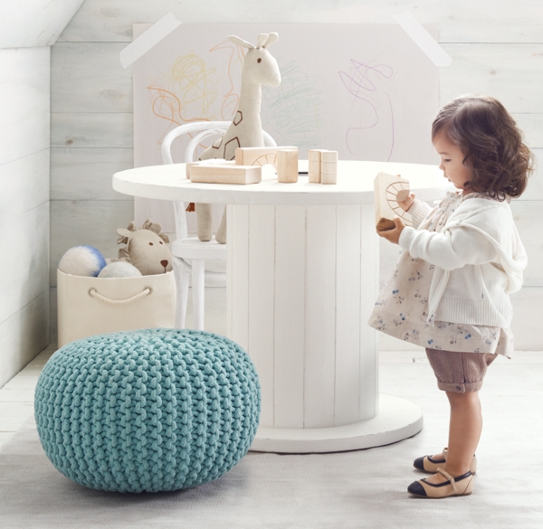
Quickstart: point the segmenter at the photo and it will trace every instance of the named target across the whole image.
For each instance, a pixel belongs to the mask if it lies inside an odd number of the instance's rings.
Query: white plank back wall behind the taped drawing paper
[[[499,98],[518,120],[528,145],[538,158],[543,151],[543,3],[525,0],[521,7],[509,0],[222,0],[195,3],[188,0],[85,0],[52,47],[52,189],[59,202],[52,222],[65,224],[68,237],[71,214],[66,201],[100,201],[118,211],[119,200],[110,194],[109,179],[115,167],[126,168],[133,147],[131,74],[119,64],[119,50],[132,39],[132,24],[156,22],[172,11],[184,23],[256,21],[270,23],[376,23],[394,24],[392,15],[405,10],[423,24],[438,24],[439,40],[452,56],[452,65],[440,70],[440,102],[467,91]],[[272,24],[270,27],[273,30]],[[68,154],[67,151],[70,151]],[[96,153],[96,156],[92,156]],[[78,169],[81,167],[81,169]],[[81,187],[80,187],[81,185]],[[81,190],[81,194],[79,194]],[[520,236],[529,252],[526,288],[529,296],[515,298],[517,312],[543,304],[543,255],[538,243],[538,221],[543,206],[543,172],[512,208]],[[126,201],[129,203],[129,201]],[[78,226],[81,241],[94,231],[90,218]],[[127,213],[128,215],[128,213]],[[58,216],[58,220],[55,217]],[[115,215],[111,219],[119,218]],[[129,218],[127,221],[131,220]],[[113,222],[113,221],[111,221]],[[116,221],[117,222],[117,221]],[[103,225],[103,222],[102,224]],[[121,224],[122,225],[122,224]],[[119,226],[111,224],[114,232]],[[75,228],[72,229],[75,232]],[[76,238],[71,236],[71,240]],[[386,241],[385,241],[386,242]],[[397,249],[384,249],[381,281],[397,259]],[[54,259],[60,256],[55,255]],[[52,259],[53,261],[53,259]],[[513,326],[515,323],[513,323]],[[519,333],[517,347],[543,348],[535,330]],[[250,339],[250,338],[248,338]],[[403,348],[400,341],[387,347]]]

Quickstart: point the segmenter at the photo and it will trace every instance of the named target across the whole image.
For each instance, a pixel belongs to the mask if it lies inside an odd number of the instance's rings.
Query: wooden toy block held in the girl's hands
[[[398,203],[409,196],[409,180],[399,175],[379,173],[374,180],[374,193],[377,230],[392,230],[395,227],[395,215],[406,226],[413,226],[411,214],[405,212]]]

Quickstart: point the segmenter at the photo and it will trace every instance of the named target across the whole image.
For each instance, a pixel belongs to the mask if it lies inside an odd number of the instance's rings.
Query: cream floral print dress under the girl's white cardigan
[[[447,192],[441,203],[426,215],[418,230],[443,231],[452,212],[462,203],[481,194]],[[404,250],[385,287],[379,293],[368,325],[386,335],[429,349],[463,353],[498,353],[511,357],[513,335],[510,327],[473,326],[452,322],[426,322],[428,293],[434,265],[411,257]]]

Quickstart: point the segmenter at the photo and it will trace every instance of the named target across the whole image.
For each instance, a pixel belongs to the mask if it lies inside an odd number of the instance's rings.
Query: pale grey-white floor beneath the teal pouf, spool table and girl
[[[446,445],[448,404],[429,364],[381,364],[381,391],[417,402],[424,430],[377,449],[249,452],[220,479],[186,491],[123,495],[63,477],[29,420],[0,451],[0,527],[147,529],[543,527],[543,364],[496,362],[481,391],[485,426],[472,496],[424,500],[406,487],[414,458]]]

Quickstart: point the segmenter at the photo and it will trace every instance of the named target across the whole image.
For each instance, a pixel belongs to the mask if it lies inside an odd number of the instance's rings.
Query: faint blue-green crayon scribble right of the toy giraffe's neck
[[[283,145],[300,150],[319,145],[319,128],[324,126],[320,112],[324,82],[301,71],[297,61],[277,61],[281,84],[262,90],[262,128],[281,136]]]

